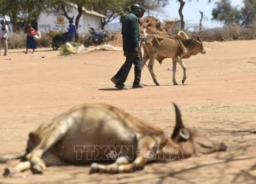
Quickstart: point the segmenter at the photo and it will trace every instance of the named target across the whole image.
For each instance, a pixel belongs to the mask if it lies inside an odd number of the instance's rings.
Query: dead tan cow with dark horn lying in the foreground
[[[2,163],[23,158],[15,168],[6,168],[4,175],[20,175],[19,172],[28,169],[42,173],[46,166],[92,162],[91,172],[132,172],[143,169],[151,160],[183,159],[195,153],[226,150],[224,144],[185,128],[180,110],[174,106],[176,125],[172,136],[110,105],[72,108],[32,131],[24,153],[0,156]],[[103,149],[104,146],[108,149]],[[106,158],[115,162],[110,165],[95,163]]]

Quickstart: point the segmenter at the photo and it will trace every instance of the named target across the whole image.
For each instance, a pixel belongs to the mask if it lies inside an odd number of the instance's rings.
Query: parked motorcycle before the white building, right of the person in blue
[[[90,47],[92,45],[97,45],[105,42],[106,38],[108,37],[108,31],[97,32],[92,27],[89,27],[89,29],[90,34],[87,37],[87,40],[84,42],[84,45],[86,45],[86,47]],[[99,31],[99,29],[97,30]]]

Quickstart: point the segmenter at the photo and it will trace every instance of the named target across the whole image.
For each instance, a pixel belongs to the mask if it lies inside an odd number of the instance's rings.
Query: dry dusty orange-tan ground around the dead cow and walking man
[[[0,154],[24,150],[30,130],[82,103],[115,105],[171,133],[180,105],[186,126],[224,142],[226,152],[167,164],[154,163],[128,174],[89,175],[89,166],[47,168],[27,178],[0,177],[0,183],[255,183],[256,40],[205,43],[207,54],[184,60],[185,85],[172,84],[172,60],[156,63],[155,86],[147,69],[143,89],[115,90],[109,80],[123,63],[118,51],[58,57],[39,49],[0,57]],[[44,58],[42,58],[44,57]],[[178,66],[177,81],[182,70]],[[131,86],[133,71],[126,84]],[[2,172],[17,161],[0,165]]]

